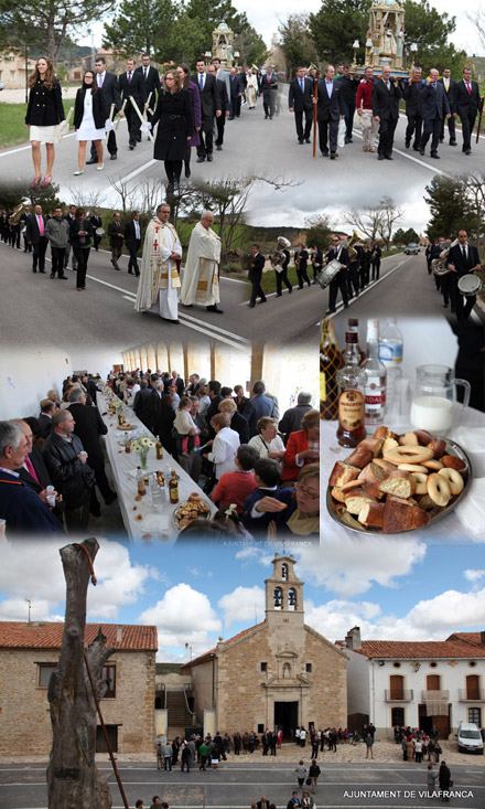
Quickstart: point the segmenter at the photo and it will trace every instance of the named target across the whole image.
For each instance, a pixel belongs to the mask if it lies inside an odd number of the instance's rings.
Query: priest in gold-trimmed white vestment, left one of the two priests
[[[159,205],[147,227],[134,308],[177,323],[181,283],[176,262],[182,258],[182,245],[169,219],[170,205]]]

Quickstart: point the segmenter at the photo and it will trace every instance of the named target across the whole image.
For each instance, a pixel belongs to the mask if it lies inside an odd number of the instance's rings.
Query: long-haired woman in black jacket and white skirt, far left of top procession
[[[25,125],[30,128],[32,143],[32,160],[35,177],[31,188],[37,185],[47,188],[52,183],[52,167],[54,166],[54,143],[61,140],[58,125],[65,120],[61,85],[54,73],[54,65],[48,56],[37,58],[34,72],[29,76],[29,104],[25,115]],[[47,152],[47,168],[44,179],[41,172],[41,143],[45,143]],[[42,182],[41,182],[42,181]]]

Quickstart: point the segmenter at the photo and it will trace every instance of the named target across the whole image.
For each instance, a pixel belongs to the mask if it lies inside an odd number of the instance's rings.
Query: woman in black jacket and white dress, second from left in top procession
[[[76,130],[76,140],[79,143],[77,151],[77,171],[76,177],[84,174],[84,161],[86,159],[86,143],[94,140],[96,152],[98,156],[98,164],[96,171],[103,171],[103,141],[105,139],[105,124],[108,117],[103,93],[98,93],[96,75],[93,71],[86,71],[83,76],[83,85],[76,94],[74,105],[74,128]]]

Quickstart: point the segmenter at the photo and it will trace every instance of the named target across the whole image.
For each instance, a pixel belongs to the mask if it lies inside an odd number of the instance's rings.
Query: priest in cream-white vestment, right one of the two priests
[[[214,216],[204,211],[191,234],[180,300],[183,306],[205,305],[207,311],[223,313],[219,296],[220,238],[212,230]]]

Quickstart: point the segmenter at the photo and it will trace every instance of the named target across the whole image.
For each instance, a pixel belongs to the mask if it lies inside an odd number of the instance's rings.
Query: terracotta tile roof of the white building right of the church
[[[485,647],[464,640],[363,640],[355,651],[367,658],[485,658]]]

